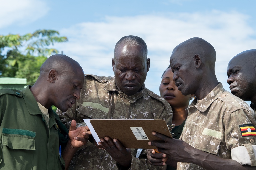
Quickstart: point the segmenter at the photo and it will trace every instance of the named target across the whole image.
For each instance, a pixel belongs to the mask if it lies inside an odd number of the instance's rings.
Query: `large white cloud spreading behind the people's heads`
[[[67,36],[69,42],[55,47],[76,59],[85,73],[112,76],[111,60],[116,42],[126,35],[139,36],[147,43],[151,59],[146,87],[159,94],[160,77],[169,64],[173,48],[191,37],[201,37],[215,47],[217,78],[228,90],[228,61],[241,51],[256,46],[249,18],[235,11],[216,10],[134,17],[108,16],[102,22],[83,22],[61,30],[61,35]]]

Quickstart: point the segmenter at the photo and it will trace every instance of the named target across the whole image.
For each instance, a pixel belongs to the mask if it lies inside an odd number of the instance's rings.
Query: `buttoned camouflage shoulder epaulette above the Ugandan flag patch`
[[[226,90],[218,94],[218,98],[227,105],[231,113],[240,109],[253,111],[245,101]]]

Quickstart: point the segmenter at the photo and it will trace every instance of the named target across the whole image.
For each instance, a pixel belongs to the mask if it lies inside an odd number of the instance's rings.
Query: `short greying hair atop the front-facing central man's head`
[[[121,47],[122,46],[122,47]],[[115,52],[114,57],[116,58],[118,56],[118,52],[123,49],[123,47],[132,47],[132,46],[140,46],[141,50],[143,51],[143,56],[145,59],[147,59],[147,44],[145,43],[142,38],[134,35],[128,35],[125,37],[122,37],[115,45]],[[122,49],[121,49],[121,48]]]

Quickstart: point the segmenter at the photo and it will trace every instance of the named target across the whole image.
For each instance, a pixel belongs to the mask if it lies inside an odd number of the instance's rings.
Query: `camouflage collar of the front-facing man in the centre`
[[[134,95],[126,95],[125,93],[123,93],[122,91],[119,91],[118,88],[116,87],[116,84],[115,84],[115,77],[113,77],[110,81],[108,81],[106,83],[106,86],[104,87],[104,90],[107,90],[107,91],[116,91],[118,93],[122,93],[125,98],[130,102],[130,103],[134,103],[136,100],[138,100],[139,98],[141,98],[144,93],[145,93],[145,84],[143,83],[142,85],[142,90],[137,92],[136,94]]]

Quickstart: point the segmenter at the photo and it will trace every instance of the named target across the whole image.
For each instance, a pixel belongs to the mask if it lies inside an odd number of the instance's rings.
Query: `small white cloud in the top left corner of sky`
[[[25,25],[47,14],[49,7],[40,0],[2,0],[0,10],[0,28]]]

